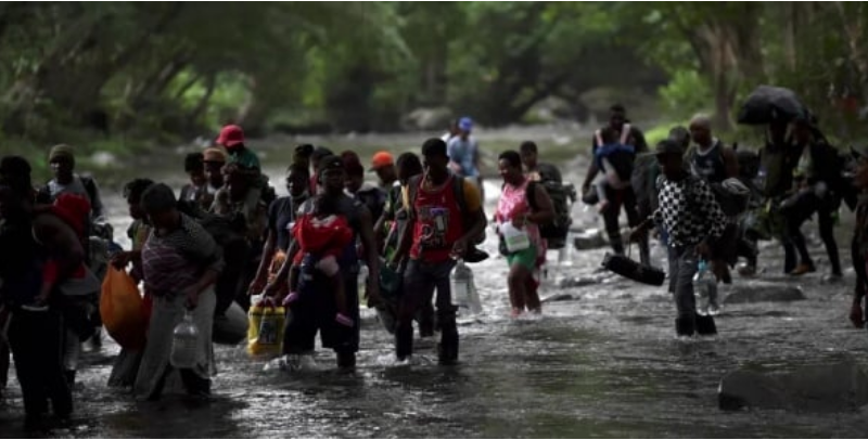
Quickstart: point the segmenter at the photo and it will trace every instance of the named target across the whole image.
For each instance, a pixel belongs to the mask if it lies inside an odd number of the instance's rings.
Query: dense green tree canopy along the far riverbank
[[[0,127],[395,130],[419,107],[505,125],[550,98],[585,117],[613,88],[730,128],[760,83],[853,117],[866,20],[860,2],[4,2]]]

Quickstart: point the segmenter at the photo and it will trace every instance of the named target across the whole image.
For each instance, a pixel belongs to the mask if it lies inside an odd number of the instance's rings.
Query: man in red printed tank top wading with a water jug
[[[429,139],[422,145],[424,173],[410,179],[404,206],[409,220],[393,264],[409,255],[404,274],[404,296],[398,308],[395,351],[399,361],[413,352],[412,321],[422,303],[437,290],[441,324],[438,358],[458,361],[457,307],[452,305],[449,274],[456,259],[467,259],[472,244],[485,233],[485,213],[474,183],[449,171],[446,142]]]

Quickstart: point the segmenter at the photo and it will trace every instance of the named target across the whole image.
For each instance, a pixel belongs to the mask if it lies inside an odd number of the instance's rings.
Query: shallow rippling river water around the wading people
[[[390,139],[379,145],[404,142]],[[358,140],[353,143],[368,146]],[[264,150],[267,170],[280,176],[282,166],[277,164],[286,152]],[[176,164],[178,159],[173,158]],[[577,169],[576,165],[566,168]],[[162,179],[170,168],[157,160],[137,169]],[[571,174],[577,180],[575,172]],[[489,183],[489,205],[497,187]],[[110,196],[107,205],[120,238],[126,228],[123,203]],[[595,225],[593,216],[580,207],[574,213],[578,224]],[[497,254],[493,240],[485,247]],[[813,251],[822,254],[816,245]],[[436,365],[431,340],[418,345],[412,364],[394,365],[391,338],[373,313],[365,311],[362,349],[353,374],[336,372],[328,351],[317,353],[316,366],[288,373],[265,371],[266,360],[248,359],[243,347],[221,346],[213,399],[166,397],[161,402],[137,403],[105,387],[111,358],[117,351],[108,342],[101,351],[86,354],[75,392],[74,423],[48,435],[778,438],[864,437],[868,432],[865,412],[726,413],[716,405],[722,375],[739,366],[781,371],[830,363],[844,355],[868,363],[868,335],[850,327],[845,318],[852,272],[838,285],[822,284],[820,274],[797,282],[782,280],[777,275],[780,253],[770,245],[764,249],[766,272],[761,280],[797,283],[808,299],[727,306],[717,320],[719,336],[678,340],[674,306],[665,290],[599,273],[603,253],[570,251],[562,262],[551,253],[542,296],[570,294],[573,299],[546,303],[544,315],[534,319],[508,318],[502,259],[475,266],[484,311],[461,318],[461,362],[455,367]],[[660,249],[655,255],[662,255]],[[560,279],[574,276],[599,276],[601,283],[558,288]],[[21,394],[13,379],[0,399],[0,433],[16,436],[21,416]]]

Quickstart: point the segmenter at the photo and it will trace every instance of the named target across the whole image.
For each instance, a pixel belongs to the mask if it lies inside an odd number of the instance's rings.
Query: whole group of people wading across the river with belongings
[[[41,187],[33,185],[25,159],[3,157],[0,385],[5,386],[11,350],[27,425],[39,425],[49,407],[54,416],[68,417],[81,342],[90,339],[99,347],[101,340],[97,305],[107,263],[141,282],[149,305],[144,348],[122,349],[108,379],[140,399],[157,399],[174,372],[171,332],[186,314],[202,337],[197,362],[178,371],[180,381],[188,393],[208,396],[215,323],[234,307],[248,308],[254,296],[286,308],[284,355],[310,357],[319,334],[322,347],[336,353],[337,366],[353,368],[360,347],[362,268],[370,274],[363,286],[367,306],[392,316],[387,325],[396,359],[412,357],[416,322],[420,338],[439,333],[439,363],[455,364],[458,307],[450,274],[459,261],[488,258],[477,248],[488,222],[509,268],[513,318],[541,312],[540,270],[547,250],[563,246],[570,225],[561,172],[540,161],[529,141],[497,157],[502,184],[495,211],[486,215],[481,151],[472,130],[473,121],[462,118],[443,138],[424,141],[420,154],[394,159],[381,151],[369,167],[352,151],[298,145],[286,168],[288,195],[277,197],[242,128],[224,127],[214,146],[186,157],[189,183],[177,196],[145,177],[125,185],[132,220],[129,249],[111,241],[100,190],[92,178],[75,173],[72,146],[51,150],[54,178]],[[583,200],[598,206],[615,254],[638,242],[639,259],[651,264],[649,231],[656,232],[668,250],[678,335],[715,333],[711,316],[719,311],[717,299],[698,311],[693,292],[702,260],[729,284],[740,257],[745,259],[740,273],[755,275],[756,242],[774,236],[784,248],[786,273],[815,271],[801,231],[814,215],[830,276],[841,277],[832,234],[837,212],[842,200],[868,189],[868,160],[842,160],[810,120],[769,126],[758,154],[725,145],[704,116],[649,147],[624,107],[615,105],[591,145]],[[846,167],[854,179],[844,177]],[[376,174],[378,185],[365,182],[366,171]],[[861,325],[868,216],[858,202],[852,246],[858,282],[851,319]],[[622,208],[633,229],[627,242],[618,222]],[[520,247],[505,238],[514,231],[523,234]],[[102,250],[111,261],[99,257],[100,241],[91,240],[100,234],[107,235]],[[384,271],[398,274],[398,288],[381,289]]]

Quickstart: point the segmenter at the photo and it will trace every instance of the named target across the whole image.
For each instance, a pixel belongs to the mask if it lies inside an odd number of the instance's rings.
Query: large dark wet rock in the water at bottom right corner
[[[868,404],[868,374],[852,359],[775,376],[739,370],[720,380],[718,404],[726,411],[855,411]]]

